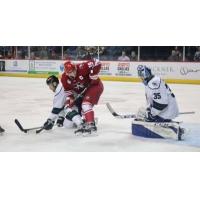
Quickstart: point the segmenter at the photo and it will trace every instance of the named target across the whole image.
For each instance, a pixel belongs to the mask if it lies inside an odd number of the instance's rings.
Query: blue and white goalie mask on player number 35
[[[138,76],[142,79],[143,83],[147,85],[148,82],[153,77],[151,69],[146,67],[145,65],[139,65],[137,71],[138,71]]]

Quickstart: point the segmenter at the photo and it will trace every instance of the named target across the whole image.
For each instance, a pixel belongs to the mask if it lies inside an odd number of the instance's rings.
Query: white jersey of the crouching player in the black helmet
[[[49,119],[55,121],[55,119],[58,117],[58,114],[61,113],[61,111],[64,112],[63,108],[65,106],[66,98],[67,94],[64,91],[62,84],[59,83],[55,91],[53,109],[48,117]]]

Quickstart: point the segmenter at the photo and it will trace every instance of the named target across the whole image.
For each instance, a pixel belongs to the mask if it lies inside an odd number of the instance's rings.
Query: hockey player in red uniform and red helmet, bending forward
[[[79,102],[85,123],[75,133],[90,134],[97,130],[93,107],[95,104],[98,104],[104,89],[103,83],[98,76],[100,69],[101,63],[96,59],[79,64],[74,64],[71,61],[64,63],[64,73],[62,74],[61,82],[67,92],[68,105],[73,105],[77,95],[82,96],[81,102]]]

